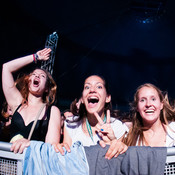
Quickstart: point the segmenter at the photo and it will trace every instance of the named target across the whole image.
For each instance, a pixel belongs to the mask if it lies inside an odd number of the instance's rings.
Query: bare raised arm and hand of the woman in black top
[[[50,48],[45,48],[37,52],[38,60],[49,59]],[[2,88],[8,105],[14,112],[16,106],[22,102],[22,95],[15,86],[13,72],[21,69],[22,67],[36,61],[36,55],[28,55],[21,58],[14,59],[3,64],[2,67]]]

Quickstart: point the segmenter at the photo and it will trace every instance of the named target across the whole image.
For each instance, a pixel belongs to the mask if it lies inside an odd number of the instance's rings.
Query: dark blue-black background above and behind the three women
[[[175,98],[174,0],[6,0],[0,8],[1,65],[42,49],[57,31],[61,111],[90,74],[108,79],[113,106],[123,111],[145,82]]]

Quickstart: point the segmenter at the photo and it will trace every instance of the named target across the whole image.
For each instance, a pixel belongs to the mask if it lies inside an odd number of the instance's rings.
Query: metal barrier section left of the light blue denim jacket
[[[23,154],[10,151],[11,143],[0,142],[0,175],[22,175]]]

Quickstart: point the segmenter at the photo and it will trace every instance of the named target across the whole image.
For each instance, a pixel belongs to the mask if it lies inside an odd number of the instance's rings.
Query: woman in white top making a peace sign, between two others
[[[92,75],[86,78],[81,96],[81,104],[78,109],[79,118],[75,122],[65,122],[63,144],[58,144],[58,150],[63,153],[64,146],[69,147],[76,141],[83,146],[96,145],[102,140],[107,142],[117,141],[115,150],[109,151],[107,158],[117,156],[126,151],[127,147],[121,140],[127,131],[127,127],[118,119],[110,117],[111,95],[106,81]],[[105,146],[101,142],[101,146]],[[109,153],[108,152],[108,153]]]

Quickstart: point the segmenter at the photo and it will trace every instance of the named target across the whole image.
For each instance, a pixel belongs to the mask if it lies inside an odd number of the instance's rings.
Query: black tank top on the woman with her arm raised
[[[20,107],[21,105],[18,106],[18,108],[15,110],[12,116],[10,126],[10,137],[13,138],[15,135],[21,134],[24,138],[27,139],[34,121],[30,122],[28,125],[25,125],[21,114],[18,112],[18,109]],[[31,140],[38,140],[43,142],[45,141],[50,120],[50,110],[51,106],[46,107],[46,112],[43,119],[37,121]]]

